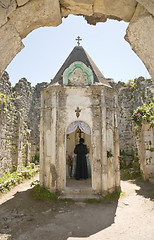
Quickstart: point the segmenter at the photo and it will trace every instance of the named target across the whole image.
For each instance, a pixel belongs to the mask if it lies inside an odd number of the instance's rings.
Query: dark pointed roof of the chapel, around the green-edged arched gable
[[[111,88],[111,85],[109,82],[105,79],[101,71],[98,69],[96,64],[92,61],[88,53],[85,51],[85,49],[81,46],[76,46],[52,80],[51,84],[59,83],[60,85],[63,85],[63,72],[66,68],[68,68],[73,62],[81,61],[83,62],[87,67],[90,67],[94,74],[94,84],[95,83],[101,83],[105,86],[108,86]]]

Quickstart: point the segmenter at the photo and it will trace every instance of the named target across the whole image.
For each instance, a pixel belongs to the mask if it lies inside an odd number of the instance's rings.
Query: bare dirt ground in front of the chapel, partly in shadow
[[[10,240],[154,240],[154,186],[148,182],[121,181],[124,195],[108,203],[36,201],[31,182],[1,197],[1,240],[7,234]]]

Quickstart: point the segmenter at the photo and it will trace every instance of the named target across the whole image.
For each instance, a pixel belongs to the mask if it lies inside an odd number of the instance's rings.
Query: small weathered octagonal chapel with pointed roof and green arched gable
[[[119,189],[117,96],[81,46],[41,96],[40,184],[52,192],[66,188],[66,153],[78,143],[77,128],[89,147],[93,192]]]

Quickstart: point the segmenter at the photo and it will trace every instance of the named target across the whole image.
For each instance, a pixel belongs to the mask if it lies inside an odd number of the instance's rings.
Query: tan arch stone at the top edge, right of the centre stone
[[[129,22],[135,12],[136,0],[95,0],[94,14],[102,14]]]

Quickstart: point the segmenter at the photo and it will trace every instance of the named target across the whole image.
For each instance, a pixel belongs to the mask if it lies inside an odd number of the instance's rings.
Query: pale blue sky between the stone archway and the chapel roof
[[[50,82],[74,46],[77,36],[106,78],[115,82],[139,76],[150,78],[142,61],[124,40],[128,23],[108,20],[89,25],[83,17],[70,15],[58,27],[43,27],[31,32],[23,43],[25,48],[7,67],[12,85],[22,77],[32,86]]]

